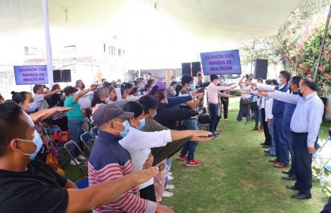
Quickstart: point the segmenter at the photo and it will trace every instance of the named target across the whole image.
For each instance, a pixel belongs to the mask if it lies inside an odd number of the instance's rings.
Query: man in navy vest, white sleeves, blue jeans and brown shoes
[[[250,82],[251,85],[257,88],[266,89],[268,91],[277,90],[279,92],[287,93],[289,90],[289,81],[291,78],[291,73],[289,71],[283,70],[279,72],[277,77],[276,86],[266,85],[262,83]],[[274,165],[276,168],[289,167],[290,155],[289,147],[286,141],[285,131],[282,127],[283,123],[283,113],[285,108],[285,102],[280,100],[274,100],[272,114],[274,116],[274,140],[276,147],[276,158],[270,159],[269,162],[278,163]]]

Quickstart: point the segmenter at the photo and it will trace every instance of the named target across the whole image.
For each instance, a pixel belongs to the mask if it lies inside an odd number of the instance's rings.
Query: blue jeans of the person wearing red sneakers
[[[187,130],[198,130],[198,120],[196,118],[184,120]],[[187,161],[194,160],[194,153],[197,150],[198,142],[187,142],[181,151],[181,155],[185,156],[187,153]]]

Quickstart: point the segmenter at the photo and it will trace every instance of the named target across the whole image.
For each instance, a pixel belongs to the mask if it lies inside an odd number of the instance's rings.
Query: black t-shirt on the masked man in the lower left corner
[[[67,178],[56,173],[38,157],[24,172],[0,170],[0,212],[64,213]]]

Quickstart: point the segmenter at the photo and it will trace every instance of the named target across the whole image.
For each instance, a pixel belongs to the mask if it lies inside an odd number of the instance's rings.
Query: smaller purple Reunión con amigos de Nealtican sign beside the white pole
[[[48,83],[47,66],[14,66],[16,85]]]

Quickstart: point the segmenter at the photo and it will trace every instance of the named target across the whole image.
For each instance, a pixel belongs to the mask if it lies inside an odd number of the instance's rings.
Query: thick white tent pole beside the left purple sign
[[[48,84],[49,84],[49,88],[52,88],[54,84],[54,80],[53,80],[52,49],[51,49],[51,37],[50,37],[50,25],[48,20],[47,0],[42,0],[42,10],[44,14]]]

